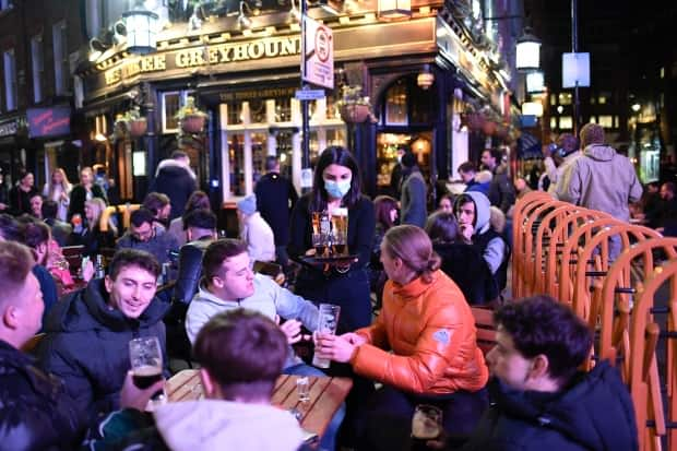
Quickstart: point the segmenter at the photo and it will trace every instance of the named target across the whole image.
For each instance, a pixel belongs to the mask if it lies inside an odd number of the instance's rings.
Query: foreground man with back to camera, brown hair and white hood
[[[93,450],[306,450],[297,419],[271,406],[287,339],[265,316],[234,309],[214,316],[193,347],[206,400],[159,406],[153,418],[115,413],[93,430]]]

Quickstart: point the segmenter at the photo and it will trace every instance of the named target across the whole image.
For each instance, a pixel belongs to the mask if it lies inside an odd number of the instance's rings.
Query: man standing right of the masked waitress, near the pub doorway
[[[420,174],[416,155],[407,152],[402,157],[404,168],[402,177],[402,224],[411,224],[424,228],[426,225],[427,212],[427,189],[426,180]]]

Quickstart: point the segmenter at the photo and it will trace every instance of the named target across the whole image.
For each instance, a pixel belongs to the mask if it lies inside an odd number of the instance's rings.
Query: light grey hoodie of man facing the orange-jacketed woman
[[[274,320],[276,314],[284,319],[298,319],[311,332],[318,329],[319,312],[312,302],[281,287],[266,275],[254,274],[253,285],[253,295],[235,300],[224,300],[200,286],[186,314],[186,332],[190,342],[195,342],[198,332],[213,316],[237,308],[258,311],[271,320]],[[299,363],[289,346],[285,368]]]

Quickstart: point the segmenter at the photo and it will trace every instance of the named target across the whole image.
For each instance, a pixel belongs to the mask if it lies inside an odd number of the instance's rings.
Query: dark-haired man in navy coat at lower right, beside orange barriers
[[[608,361],[591,372],[592,332],[569,307],[547,296],[495,313],[497,346],[487,354],[492,404],[463,451],[634,451],[632,400]]]

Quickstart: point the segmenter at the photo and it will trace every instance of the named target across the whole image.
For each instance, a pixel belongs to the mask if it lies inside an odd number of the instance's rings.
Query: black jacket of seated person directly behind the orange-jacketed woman
[[[442,259],[441,270],[459,285],[471,306],[487,305],[498,298],[498,284],[482,253],[472,245],[435,244]]]

